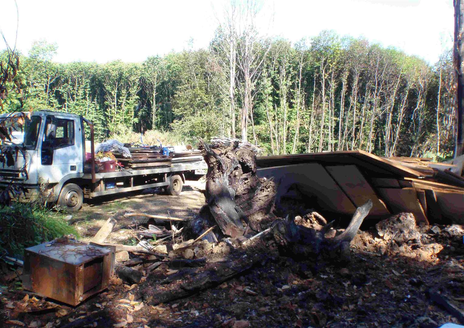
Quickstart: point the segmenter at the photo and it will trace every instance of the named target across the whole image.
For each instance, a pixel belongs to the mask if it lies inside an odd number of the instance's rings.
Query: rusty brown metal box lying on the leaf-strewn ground
[[[111,250],[77,240],[54,240],[26,248],[23,287],[73,306],[108,286]]]

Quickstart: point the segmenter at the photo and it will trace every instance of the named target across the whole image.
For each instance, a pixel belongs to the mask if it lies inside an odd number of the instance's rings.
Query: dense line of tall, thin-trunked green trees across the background
[[[100,140],[157,129],[189,142],[247,138],[271,154],[451,155],[451,51],[432,66],[363,38],[323,31],[291,44],[245,26],[221,25],[208,49],[143,63],[55,63],[57,46],[36,42],[20,56],[25,87],[6,96],[3,112],[82,114]]]

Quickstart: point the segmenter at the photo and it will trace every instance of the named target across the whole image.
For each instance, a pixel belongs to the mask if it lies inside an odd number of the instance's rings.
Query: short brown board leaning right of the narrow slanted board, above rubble
[[[378,188],[377,192],[394,214],[411,212],[414,214],[417,223],[424,222],[428,224],[424,210],[417,199],[415,189]]]

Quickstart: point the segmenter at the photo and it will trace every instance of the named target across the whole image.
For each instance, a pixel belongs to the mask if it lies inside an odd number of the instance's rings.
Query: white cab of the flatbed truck
[[[2,116],[4,116],[3,114]],[[18,138],[18,137],[17,137]],[[49,200],[56,202],[64,181],[80,177],[85,158],[84,125],[81,116],[68,113],[34,112],[24,126],[24,155],[15,153],[14,165],[0,166],[0,187],[13,179],[23,183],[26,199],[39,196],[40,185],[47,187]],[[6,146],[14,150],[15,145]]]

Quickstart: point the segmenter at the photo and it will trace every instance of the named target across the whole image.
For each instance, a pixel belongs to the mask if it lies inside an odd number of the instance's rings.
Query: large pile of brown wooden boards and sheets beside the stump
[[[258,157],[257,165],[258,176],[277,182],[277,199],[296,187],[329,213],[352,215],[371,199],[370,217],[411,212],[417,223],[464,224],[464,178],[454,164],[332,151]]]

